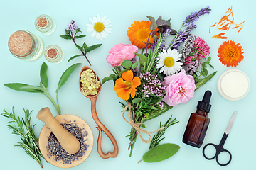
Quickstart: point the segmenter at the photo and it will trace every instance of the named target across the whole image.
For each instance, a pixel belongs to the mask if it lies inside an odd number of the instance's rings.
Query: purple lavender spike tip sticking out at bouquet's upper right
[[[209,6],[206,8],[201,8],[198,12],[192,12],[191,15],[187,16],[185,21],[183,21],[183,26],[189,26],[193,24],[194,21],[197,21],[200,16],[203,16],[204,14],[210,13]]]

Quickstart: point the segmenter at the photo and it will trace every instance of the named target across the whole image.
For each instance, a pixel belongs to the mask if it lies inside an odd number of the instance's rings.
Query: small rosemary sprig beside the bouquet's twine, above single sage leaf
[[[171,118],[172,118],[172,115],[171,115]],[[150,142],[149,149],[156,147],[157,145],[159,145],[159,142],[161,142],[161,140],[164,140],[165,137],[163,137],[163,138],[161,138],[161,137],[164,135],[164,132],[166,131],[167,128],[169,128],[169,126],[178,123],[178,120],[176,120],[176,118],[174,120],[171,120],[171,118],[169,118],[166,121],[166,123],[164,123],[164,125],[161,125],[161,122],[160,122],[160,128],[164,126],[164,129],[156,132],[156,135],[153,136],[153,138]]]

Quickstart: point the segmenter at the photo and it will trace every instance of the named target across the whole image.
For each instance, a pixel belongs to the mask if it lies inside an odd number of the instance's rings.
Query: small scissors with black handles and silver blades
[[[221,166],[226,166],[226,165],[228,165],[228,164],[231,162],[231,159],[232,159],[232,154],[231,154],[228,150],[224,149],[224,148],[223,148],[223,145],[224,145],[225,140],[227,139],[228,134],[229,134],[229,132],[230,132],[230,129],[231,129],[233,123],[234,123],[236,113],[237,113],[237,111],[235,111],[235,113],[233,114],[233,116],[232,116],[230,122],[228,123],[228,127],[226,128],[226,130],[225,130],[225,132],[224,132],[224,135],[223,135],[222,139],[220,140],[220,144],[219,144],[219,145],[215,145],[215,144],[213,144],[213,143],[208,143],[206,146],[203,147],[203,157],[205,157],[205,158],[208,159],[208,160],[211,160],[211,159],[216,158],[217,163],[218,163],[219,165],[221,165]],[[216,153],[215,153],[215,155],[214,155],[213,157],[206,157],[205,149],[206,149],[206,147],[208,147],[209,145],[212,145],[212,146],[215,147],[215,149],[216,149]],[[219,156],[219,154],[220,154],[221,152],[227,152],[227,153],[230,155],[229,161],[228,161],[227,163],[225,163],[225,164],[221,164],[221,163],[219,162],[219,160],[218,160],[218,156]]]

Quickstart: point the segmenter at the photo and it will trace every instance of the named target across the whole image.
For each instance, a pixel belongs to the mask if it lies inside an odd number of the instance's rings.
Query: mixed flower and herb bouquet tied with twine
[[[114,81],[114,91],[125,103],[121,103],[124,113],[128,112],[132,128],[129,133],[130,156],[137,136],[145,143],[151,142],[143,122],[156,118],[179,103],[186,103],[194,91],[211,79],[216,72],[208,75],[210,47],[203,38],[191,35],[196,29],[194,21],[210,12],[201,8],[187,16],[180,30],[171,28],[170,20],[161,16],[155,20],[135,21],[128,28],[127,35],[132,45],[114,45],[107,56],[107,62],[114,67],[109,77],[102,79]],[[166,40],[171,38],[169,45]],[[139,48],[141,52],[138,53]],[[137,59],[139,61],[137,61]],[[149,135],[144,140],[141,133]]]

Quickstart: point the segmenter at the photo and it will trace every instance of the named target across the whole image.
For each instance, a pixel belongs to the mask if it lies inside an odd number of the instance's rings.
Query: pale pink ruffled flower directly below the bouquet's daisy
[[[166,96],[164,96],[163,101],[169,106],[188,102],[196,89],[193,77],[186,75],[184,69],[181,69],[178,74],[165,77],[163,84],[166,86]]]

